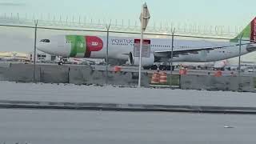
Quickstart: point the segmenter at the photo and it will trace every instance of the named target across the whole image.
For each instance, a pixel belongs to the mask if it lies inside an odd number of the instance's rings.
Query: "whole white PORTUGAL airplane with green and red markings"
[[[239,56],[239,38],[242,37],[241,54],[256,50],[256,18],[230,42],[174,39],[174,62],[215,62]],[[67,58],[106,58],[106,36],[57,35],[40,40],[38,50]],[[134,58],[134,38],[109,37],[109,58],[138,65]],[[170,62],[171,40],[150,38],[150,58],[142,58],[142,66],[154,62]]]

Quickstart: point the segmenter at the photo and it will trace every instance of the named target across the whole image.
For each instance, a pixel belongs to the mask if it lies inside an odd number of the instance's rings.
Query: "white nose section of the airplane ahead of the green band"
[[[64,44],[54,42],[38,42],[37,49],[47,54],[68,57],[71,48]]]

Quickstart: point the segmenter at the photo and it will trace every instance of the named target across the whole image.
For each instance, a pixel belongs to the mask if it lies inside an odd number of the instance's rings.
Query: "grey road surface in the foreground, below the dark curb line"
[[[6,144],[256,142],[255,115],[5,109],[0,115]]]

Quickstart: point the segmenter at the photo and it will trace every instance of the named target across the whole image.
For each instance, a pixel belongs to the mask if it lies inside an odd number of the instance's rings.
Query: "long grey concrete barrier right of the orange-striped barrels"
[[[185,90],[234,90],[254,92],[254,78],[182,75],[181,88]]]

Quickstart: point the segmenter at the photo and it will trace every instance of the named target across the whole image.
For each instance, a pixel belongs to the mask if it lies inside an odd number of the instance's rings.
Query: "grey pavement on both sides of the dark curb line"
[[[0,82],[1,100],[255,106],[254,93]],[[0,144],[251,144],[256,116],[0,109]],[[229,128],[233,127],[233,128]]]

